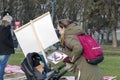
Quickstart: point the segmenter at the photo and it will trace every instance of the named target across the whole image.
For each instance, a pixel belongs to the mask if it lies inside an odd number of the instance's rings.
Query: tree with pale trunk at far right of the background
[[[91,0],[92,1],[92,0]],[[100,31],[106,29],[109,34],[112,31],[112,45],[117,47],[117,0],[93,0],[88,10],[88,27]],[[107,39],[109,39],[107,37]]]

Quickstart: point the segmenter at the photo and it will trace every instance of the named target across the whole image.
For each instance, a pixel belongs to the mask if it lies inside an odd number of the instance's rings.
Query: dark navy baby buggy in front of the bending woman
[[[37,66],[44,64],[44,71],[41,73],[37,70]],[[59,80],[67,70],[60,73],[65,64],[62,64],[56,69],[51,69],[45,62],[43,55],[36,52],[28,53],[23,62],[21,63],[21,69],[24,71],[27,80]]]

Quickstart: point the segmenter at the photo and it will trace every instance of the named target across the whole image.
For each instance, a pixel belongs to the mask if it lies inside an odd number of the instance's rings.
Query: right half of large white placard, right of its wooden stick
[[[38,35],[38,38],[41,41],[43,49],[46,49],[59,41],[55,33],[50,15],[47,15],[42,19],[35,21],[34,26],[37,34],[40,34]]]

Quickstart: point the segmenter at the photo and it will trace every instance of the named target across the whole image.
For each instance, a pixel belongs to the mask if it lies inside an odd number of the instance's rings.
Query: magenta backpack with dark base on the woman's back
[[[97,65],[103,61],[102,48],[90,35],[82,34],[78,35],[77,38],[83,47],[83,56],[88,63]]]

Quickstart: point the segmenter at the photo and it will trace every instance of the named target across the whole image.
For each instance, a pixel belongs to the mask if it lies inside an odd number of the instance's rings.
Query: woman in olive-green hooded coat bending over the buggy
[[[65,53],[69,56],[75,73],[75,80],[103,80],[98,65],[88,64],[82,56],[82,45],[75,35],[84,34],[77,24],[67,19],[59,22],[58,29],[61,34],[61,43],[65,47]]]

